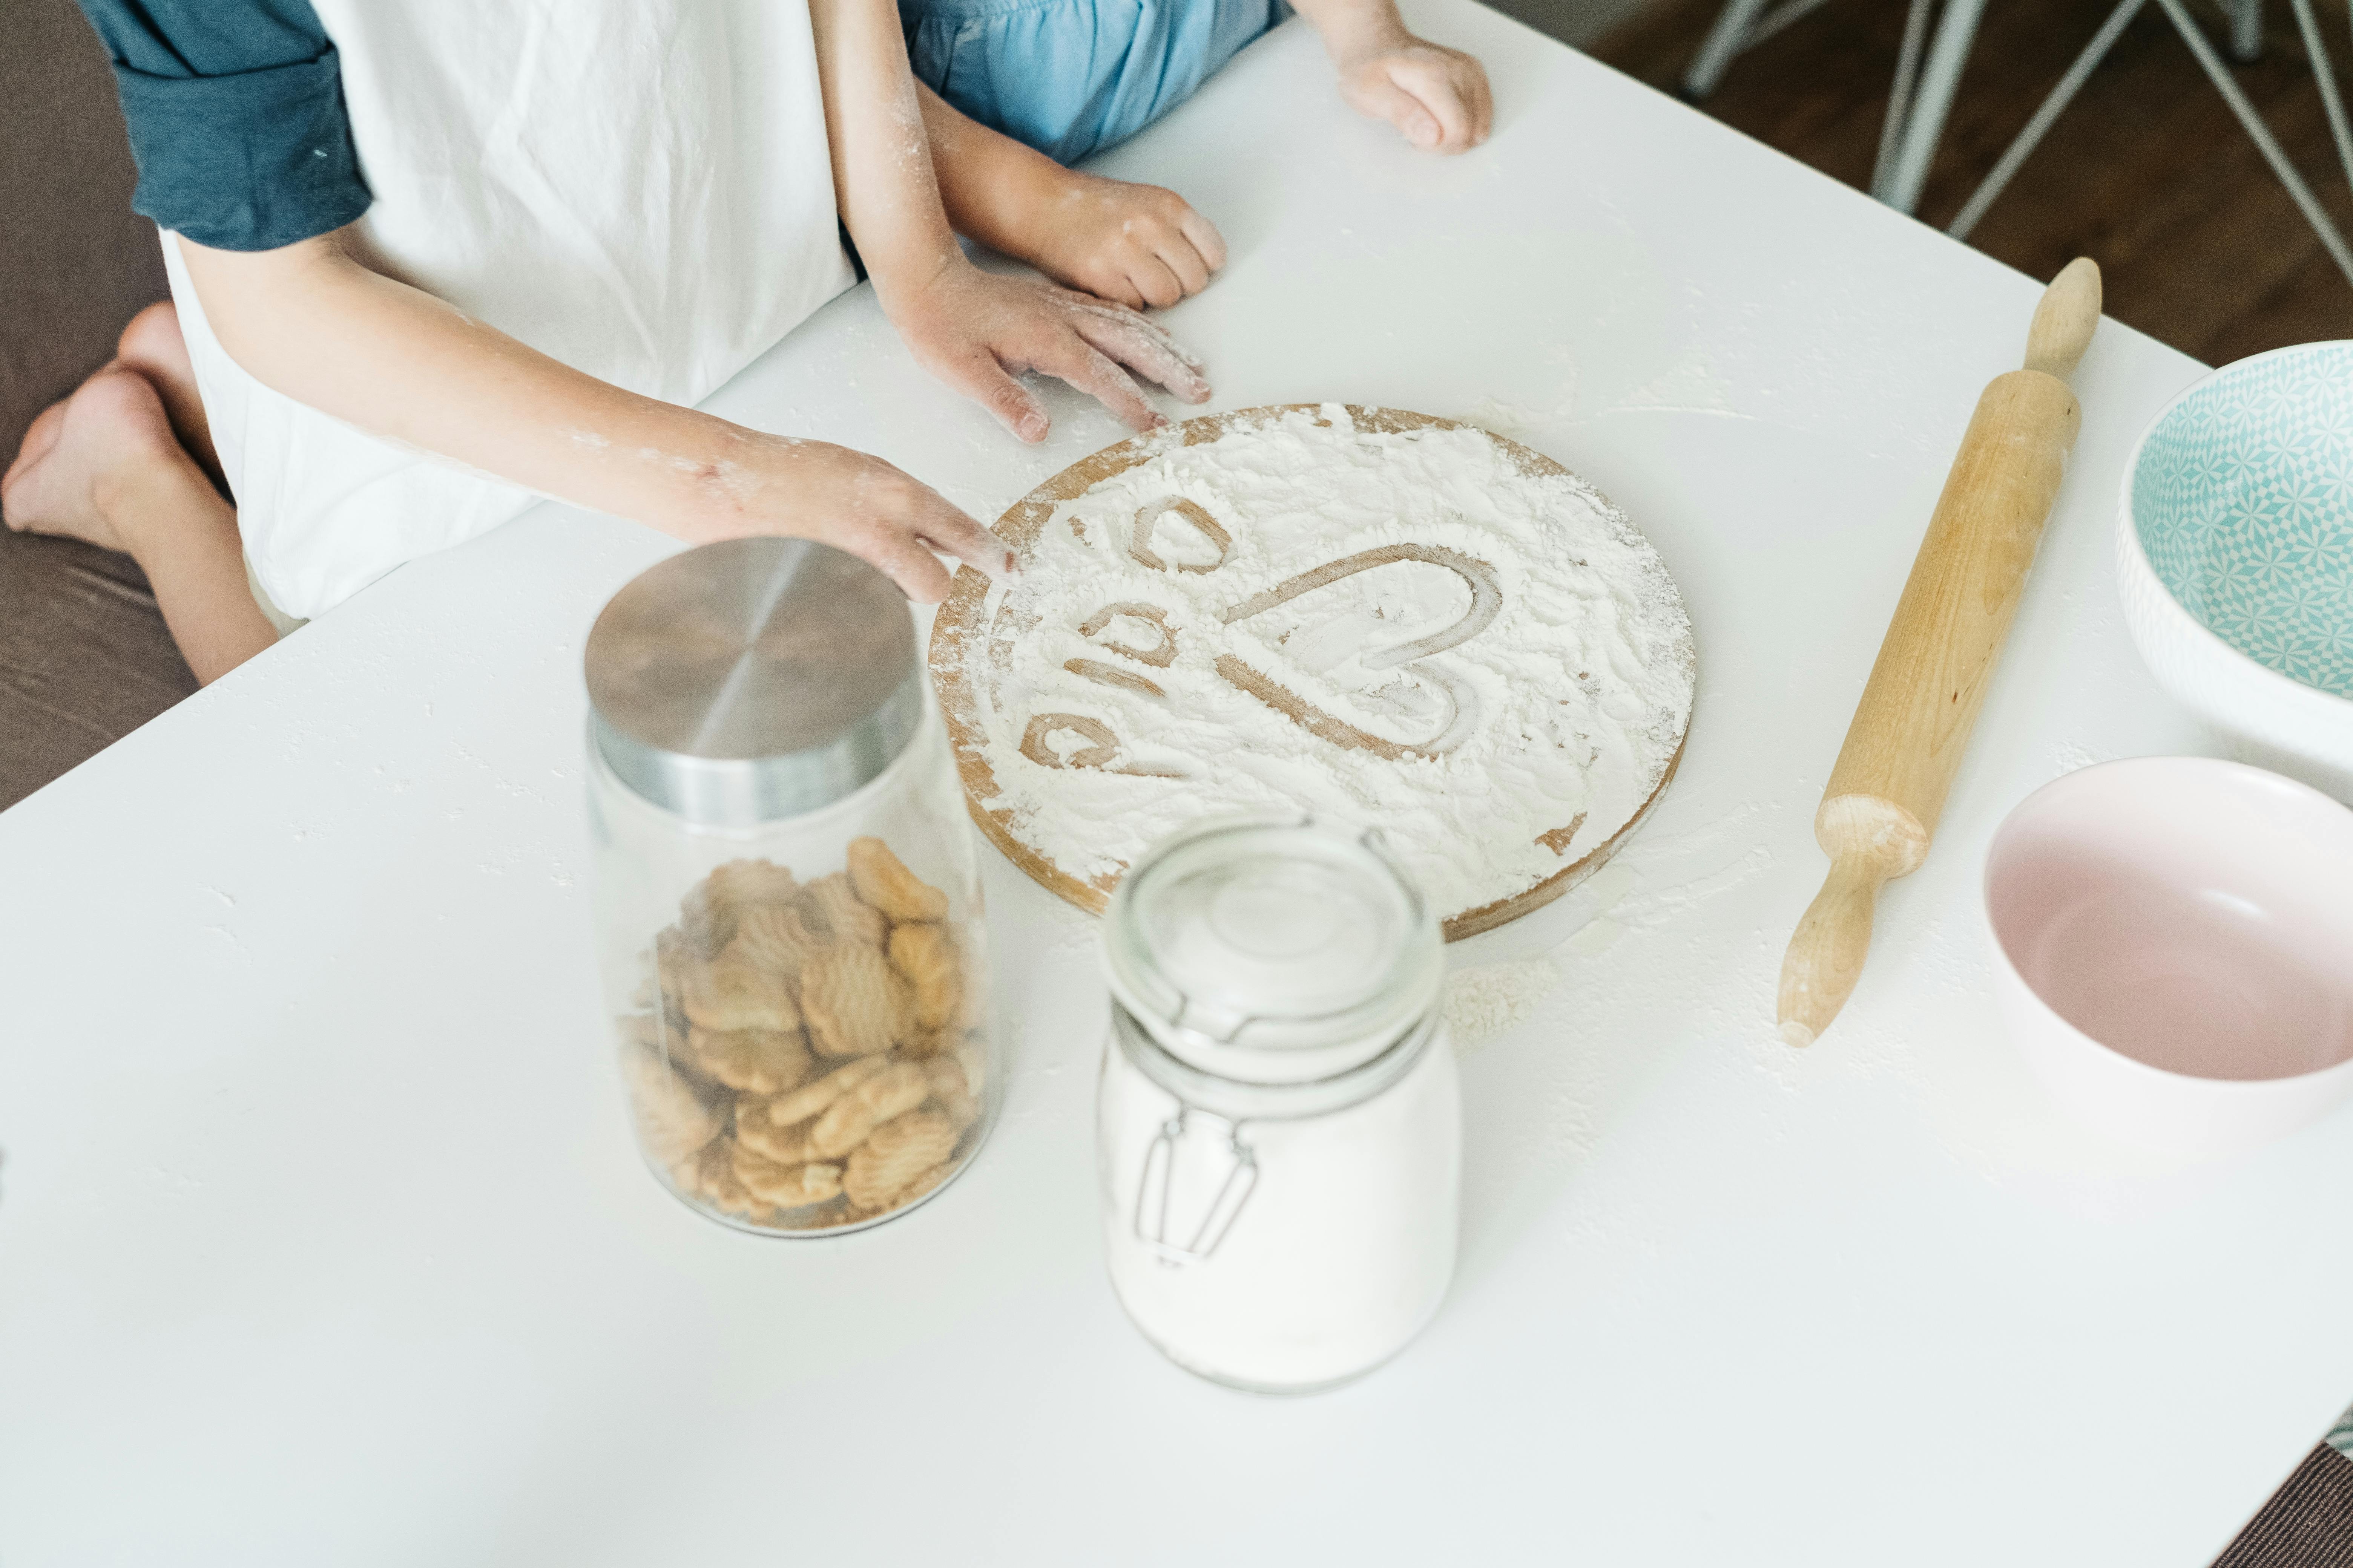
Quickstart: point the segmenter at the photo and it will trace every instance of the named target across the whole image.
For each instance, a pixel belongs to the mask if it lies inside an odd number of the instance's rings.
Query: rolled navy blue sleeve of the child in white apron
[[[344,73],[308,0],[80,7],[115,61],[134,212],[226,252],[278,249],[367,212]]]

